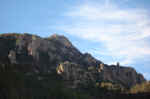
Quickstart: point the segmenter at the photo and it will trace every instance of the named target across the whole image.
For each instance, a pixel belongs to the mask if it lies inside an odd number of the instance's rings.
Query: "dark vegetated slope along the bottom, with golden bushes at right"
[[[128,93],[120,85],[111,82],[97,82],[95,87],[74,90],[66,88],[56,72],[27,75],[28,70],[22,67],[28,69],[30,66],[0,65],[0,99],[119,99],[122,96],[122,99],[140,99],[135,97],[150,93],[149,82],[134,86]],[[43,79],[39,80],[38,77]]]

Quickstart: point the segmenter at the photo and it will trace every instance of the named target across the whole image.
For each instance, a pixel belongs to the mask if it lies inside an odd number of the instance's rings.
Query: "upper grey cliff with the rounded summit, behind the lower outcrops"
[[[17,35],[17,36],[16,36]],[[1,58],[17,64],[36,64],[51,67],[69,61],[84,66],[96,66],[101,61],[89,61],[64,36],[40,38],[29,34],[3,34],[0,36]],[[2,60],[2,59],[1,59]]]

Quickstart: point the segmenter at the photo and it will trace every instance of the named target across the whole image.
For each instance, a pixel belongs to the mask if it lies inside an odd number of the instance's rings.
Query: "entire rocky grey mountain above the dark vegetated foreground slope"
[[[57,68],[58,75],[72,88],[102,81],[131,87],[145,81],[133,68],[108,66],[90,54],[82,54],[60,35],[41,38],[30,34],[2,34],[0,63],[27,64],[34,72],[42,73],[52,73]]]

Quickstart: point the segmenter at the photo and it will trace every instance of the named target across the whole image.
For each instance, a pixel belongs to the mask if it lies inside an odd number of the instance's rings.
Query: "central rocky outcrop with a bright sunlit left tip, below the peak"
[[[88,87],[95,85],[97,80],[92,71],[88,71],[83,66],[68,61],[58,65],[56,70],[69,88]],[[97,73],[96,70],[94,72]]]

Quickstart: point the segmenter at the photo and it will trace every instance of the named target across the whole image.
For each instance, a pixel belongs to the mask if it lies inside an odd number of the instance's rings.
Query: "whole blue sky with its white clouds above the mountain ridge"
[[[0,0],[0,33],[65,35],[83,53],[150,80],[150,0]]]

